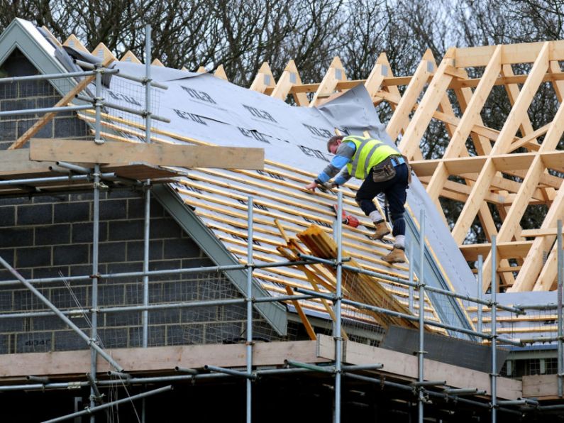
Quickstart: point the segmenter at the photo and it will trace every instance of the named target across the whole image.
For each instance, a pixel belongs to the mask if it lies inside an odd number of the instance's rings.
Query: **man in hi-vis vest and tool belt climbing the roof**
[[[317,175],[314,182],[305,188],[314,192],[339,173],[331,184],[338,187],[350,177],[364,180],[356,193],[355,201],[370,217],[376,227],[372,239],[382,239],[389,234],[384,216],[372,201],[377,194],[384,192],[389,205],[393,224],[394,248],[385,256],[387,263],[405,262],[405,220],[404,204],[409,184],[409,167],[398,150],[382,141],[365,136],[333,136],[327,141],[327,150],[335,157],[331,163]]]

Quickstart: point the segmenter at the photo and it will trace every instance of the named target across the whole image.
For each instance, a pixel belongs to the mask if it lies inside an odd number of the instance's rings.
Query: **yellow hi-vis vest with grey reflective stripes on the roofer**
[[[399,152],[384,143],[367,136],[345,136],[345,141],[352,141],[356,145],[356,151],[347,165],[348,174],[363,180],[370,173],[370,169],[385,160],[390,155],[399,155]]]

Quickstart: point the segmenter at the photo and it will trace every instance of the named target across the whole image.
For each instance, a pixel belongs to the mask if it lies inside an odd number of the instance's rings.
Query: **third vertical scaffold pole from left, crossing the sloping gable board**
[[[247,374],[253,371],[253,197],[248,197],[247,235]],[[247,378],[247,423],[251,422],[253,386]]]

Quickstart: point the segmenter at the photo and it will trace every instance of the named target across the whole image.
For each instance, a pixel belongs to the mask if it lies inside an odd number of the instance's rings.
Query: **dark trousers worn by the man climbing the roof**
[[[407,197],[407,177],[409,170],[407,165],[402,163],[395,167],[396,175],[386,182],[374,182],[372,180],[372,170],[360,185],[360,189],[356,193],[356,202],[363,209],[364,214],[368,216],[376,210],[376,206],[372,200],[380,192],[384,192],[389,207],[389,216],[392,220],[394,229],[393,236],[405,235],[405,220],[404,220],[404,204]]]

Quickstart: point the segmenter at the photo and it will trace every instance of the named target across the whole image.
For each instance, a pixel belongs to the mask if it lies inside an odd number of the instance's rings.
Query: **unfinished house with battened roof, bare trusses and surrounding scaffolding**
[[[3,421],[561,421],[564,41],[399,76],[382,53],[362,80],[336,57],[315,84],[265,63],[246,88],[152,62],[146,31],[144,64],[0,35]],[[540,87],[560,106],[533,128]],[[433,123],[450,141],[424,160]],[[358,184],[304,189],[335,133],[409,158],[409,263],[382,260]]]

